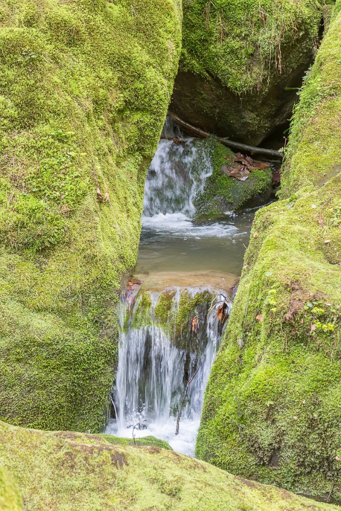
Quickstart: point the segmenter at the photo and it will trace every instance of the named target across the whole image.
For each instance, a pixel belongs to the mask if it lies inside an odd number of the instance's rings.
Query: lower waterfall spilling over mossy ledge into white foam
[[[174,320],[180,307],[181,293],[192,297],[201,289],[176,289],[171,298],[167,329],[155,321],[155,307],[160,293],[150,292],[151,305],[143,305],[144,294],[136,296],[123,293],[121,299],[119,365],[113,399],[117,419],[109,431],[118,436],[132,436],[134,426],[137,436],[153,434],[167,440],[179,452],[194,454],[194,443],[203,405],[203,393],[220,341],[217,308],[225,297],[210,290],[214,298],[210,308],[209,298],[192,311],[197,314],[198,331],[181,339],[174,330]],[[131,305],[133,304],[133,305]],[[228,308],[230,308],[230,303]],[[146,308],[147,307],[147,308]],[[179,435],[175,435],[178,406],[187,381],[188,387],[183,406]]]

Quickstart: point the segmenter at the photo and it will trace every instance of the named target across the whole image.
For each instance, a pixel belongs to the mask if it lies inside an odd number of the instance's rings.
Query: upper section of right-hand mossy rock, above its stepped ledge
[[[322,186],[341,172],[340,25],[335,17],[300,92],[286,151],[283,197]]]

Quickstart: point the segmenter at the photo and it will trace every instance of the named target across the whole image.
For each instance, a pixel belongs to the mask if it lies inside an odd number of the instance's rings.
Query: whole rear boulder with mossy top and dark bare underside
[[[184,0],[172,109],[212,133],[258,145],[291,117],[313,60],[323,0]]]

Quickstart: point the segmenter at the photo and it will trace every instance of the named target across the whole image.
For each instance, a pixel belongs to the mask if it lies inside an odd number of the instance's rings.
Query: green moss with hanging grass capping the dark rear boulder
[[[210,5],[186,0],[181,53],[184,68],[218,77],[238,95],[260,89],[269,75],[270,80],[277,78],[272,72],[292,72],[297,65],[295,39],[304,41],[302,54],[312,52],[321,19],[316,7],[323,4],[265,0],[260,7],[254,0],[221,0]],[[285,54],[289,48],[294,54]]]

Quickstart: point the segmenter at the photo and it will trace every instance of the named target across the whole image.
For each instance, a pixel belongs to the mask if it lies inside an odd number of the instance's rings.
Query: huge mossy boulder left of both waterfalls
[[[0,0],[0,416],[96,430],[180,46],[177,1]]]

